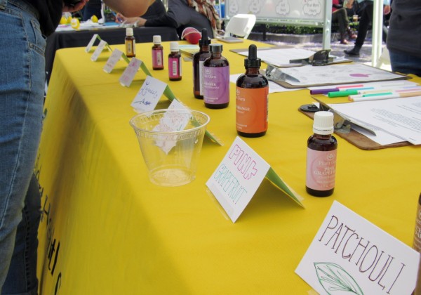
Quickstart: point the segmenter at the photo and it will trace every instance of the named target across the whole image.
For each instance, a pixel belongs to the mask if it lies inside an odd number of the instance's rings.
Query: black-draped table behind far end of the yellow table
[[[51,34],[47,38],[46,45],[46,73],[48,81],[53,70],[55,51],[62,48],[87,46],[93,34],[98,34],[108,44],[122,44],[124,43],[124,37],[126,37],[126,29],[124,27],[100,27],[82,29],[80,31],[58,31]],[[177,41],[179,39],[177,30],[173,27],[133,28],[133,36],[138,43],[152,42],[154,35],[160,35],[162,41]]]

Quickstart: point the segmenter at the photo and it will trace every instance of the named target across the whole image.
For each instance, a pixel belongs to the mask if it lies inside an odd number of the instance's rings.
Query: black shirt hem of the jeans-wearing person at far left
[[[41,25],[42,34],[48,36],[55,31],[60,22],[63,9],[62,0],[22,0],[25,1],[39,12],[39,25]]]

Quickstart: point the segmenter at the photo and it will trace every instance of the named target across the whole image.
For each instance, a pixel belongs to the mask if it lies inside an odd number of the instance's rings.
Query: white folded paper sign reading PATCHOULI
[[[319,294],[411,294],[419,257],[335,201],[295,273]]]

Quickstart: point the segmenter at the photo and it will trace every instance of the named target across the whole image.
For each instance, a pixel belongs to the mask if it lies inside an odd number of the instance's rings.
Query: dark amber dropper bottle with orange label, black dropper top
[[[267,107],[269,83],[260,74],[260,58],[254,44],[248,46],[248,58],[244,60],[246,74],[236,81],[236,131],[239,136],[260,137],[267,131]]]

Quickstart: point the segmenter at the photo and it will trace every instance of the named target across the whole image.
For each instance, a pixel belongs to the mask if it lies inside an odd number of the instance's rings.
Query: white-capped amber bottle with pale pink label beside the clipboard
[[[335,189],[338,141],[333,133],[333,113],[315,112],[314,134],[307,140],[305,188],[315,197],[328,197]]]

